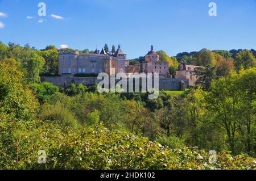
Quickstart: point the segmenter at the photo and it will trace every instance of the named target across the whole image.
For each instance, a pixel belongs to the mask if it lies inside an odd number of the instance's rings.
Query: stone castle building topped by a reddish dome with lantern
[[[150,52],[145,56],[145,62],[142,64],[130,65],[128,67],[129,73],[159,73],[159,77],[166,78],[170,75],[168,62],[160,61],[159,55],[151,46]]]

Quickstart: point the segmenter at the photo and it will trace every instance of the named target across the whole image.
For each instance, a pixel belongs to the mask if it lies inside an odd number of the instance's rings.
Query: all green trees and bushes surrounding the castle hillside
[[[60,89],[39,76],[57,75],[54,46],[1,43],[0,169],[255,169],[255,52],[158,53],[205,66],[198,85],[153,100],[97,85]]]

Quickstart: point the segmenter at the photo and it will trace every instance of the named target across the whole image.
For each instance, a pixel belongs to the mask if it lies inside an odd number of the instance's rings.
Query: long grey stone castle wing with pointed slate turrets
[[[106,53],[104,49],[95,50],[94,53],[78,51],[59,51],[59,74],[73,76],[75,74],[99,74],[102,72],[112,75],[114,73],[127,73],[128,61],[120,45],[117,51]]]

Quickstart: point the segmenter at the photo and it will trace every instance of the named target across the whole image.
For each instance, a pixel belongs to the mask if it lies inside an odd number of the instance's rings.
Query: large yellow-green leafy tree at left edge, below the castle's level
[[[38,111],[38,101],[27,89],[23,73],[15,66],[2,62],[0,66],[0,115],[29,121]]]

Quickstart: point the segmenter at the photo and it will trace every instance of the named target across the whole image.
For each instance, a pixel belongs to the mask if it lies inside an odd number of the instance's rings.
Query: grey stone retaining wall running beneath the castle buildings
[[[41,80],[42,82],[51,82],[53,85],[59,87],[69,87],[71,86],[72,82],[74,82],[76,85],[82,83],[86,86],[101,82],[101,80],[98,80],[97,77],[42,77]],[[159,78],[159,90],[180,91],[185,90],[185,88],[188,86],[188,79]]]

